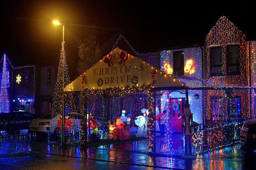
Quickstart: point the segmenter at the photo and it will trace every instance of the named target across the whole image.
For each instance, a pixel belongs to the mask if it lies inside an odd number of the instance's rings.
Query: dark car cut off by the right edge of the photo
[[[240,133],[241,149],[245,152],[256,150],[256,119],[246,121]]]

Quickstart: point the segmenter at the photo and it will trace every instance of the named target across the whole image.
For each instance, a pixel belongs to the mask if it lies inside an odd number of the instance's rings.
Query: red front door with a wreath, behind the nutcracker
[[[173,132],[182,132],[183,99],[170,98],[171,129]]]

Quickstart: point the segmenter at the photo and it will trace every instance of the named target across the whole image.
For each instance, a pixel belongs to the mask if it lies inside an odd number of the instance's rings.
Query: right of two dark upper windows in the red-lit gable
[[[228,73],[238,73],[240,72],[240,62],[239,62],[239,46],[229,46],[227,48],[228,54]]]

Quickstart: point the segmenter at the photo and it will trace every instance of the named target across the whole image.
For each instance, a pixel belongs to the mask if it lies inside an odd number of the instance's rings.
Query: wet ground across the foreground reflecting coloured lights
[[[117,168],[248,170],[256,166],[256,154],[244,153],[240,149],[240,144],[203,154],[185,156],[183,143],[177,140],[179,138],[182,140],[182,137],[177,135],[175,137],[177,142],[172,142],[172,145],[164,137],[157,138],[159,145],[156,145],[156,153],[149,154],[146,139],[83,149],[79,146],[49,144],[48,141],[35,138],[33,135],[7,135],[0,137],[0,164],[2,167],[17,166],[17,169],[47,169],[48,166],[60,162],[59,166],[54,166],[53,169],[56,170]],[[14,161],[15,156],[20,159],[17,158]],[[30,156],[33,156],[31,163],[24,164],[22,158],[28,161]],[[51,164],[45,164],[47,161]]]

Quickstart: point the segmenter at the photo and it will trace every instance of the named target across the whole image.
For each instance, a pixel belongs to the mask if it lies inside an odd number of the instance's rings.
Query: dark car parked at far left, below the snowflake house
[[[36,116],[26,111],[12,111],[0,113],[0,132],[6,131],[9,134],[19,133],[20,130],[29,129],[29,125]]]

